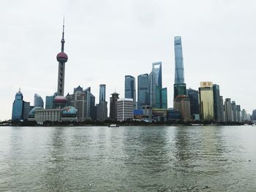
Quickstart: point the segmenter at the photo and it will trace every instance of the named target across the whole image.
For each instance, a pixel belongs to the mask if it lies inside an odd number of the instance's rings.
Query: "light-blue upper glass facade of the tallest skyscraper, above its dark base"
[[[175,84],[184,83],[184,64],[181,37],[174,37],[175,51]]]

